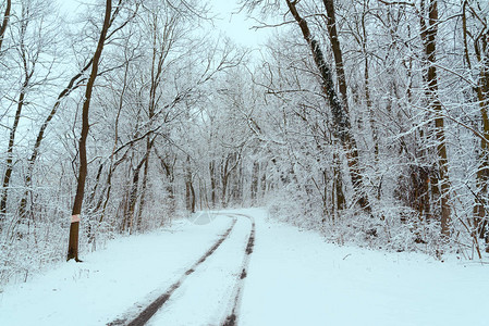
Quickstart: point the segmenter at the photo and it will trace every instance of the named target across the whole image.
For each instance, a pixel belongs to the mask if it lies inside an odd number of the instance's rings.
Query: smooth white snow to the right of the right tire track
[[[257,218],[240,325],[489,325],[489,268],[326,243]]]

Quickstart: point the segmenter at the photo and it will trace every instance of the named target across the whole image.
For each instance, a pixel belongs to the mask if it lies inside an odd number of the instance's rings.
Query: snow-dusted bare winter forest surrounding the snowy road
[[[328,241],[489,250],[489,2],[0,3],[0,284],[199,210]]]

